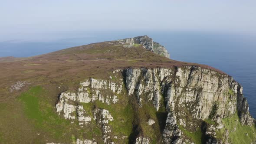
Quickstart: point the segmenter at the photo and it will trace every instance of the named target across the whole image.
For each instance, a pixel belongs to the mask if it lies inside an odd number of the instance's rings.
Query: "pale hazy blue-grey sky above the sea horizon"
[[[0,40],[76,31],[256,33],[256,0],[1,0]]]

